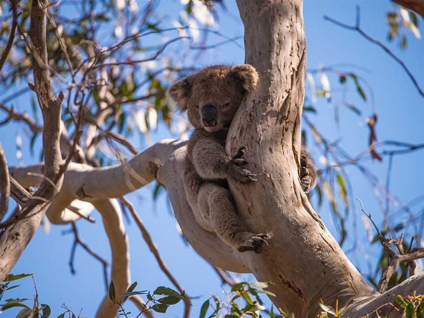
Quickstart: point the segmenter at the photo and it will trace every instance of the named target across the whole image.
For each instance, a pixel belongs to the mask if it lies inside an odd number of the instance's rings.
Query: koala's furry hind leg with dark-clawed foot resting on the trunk
[[[198,195],[198,207],[207,213],[216,234],[239,252],[261,253],[270,237],[266,233],[254,235],[246,231],[237,215],[231,192],[219,185],[206,183]]]

